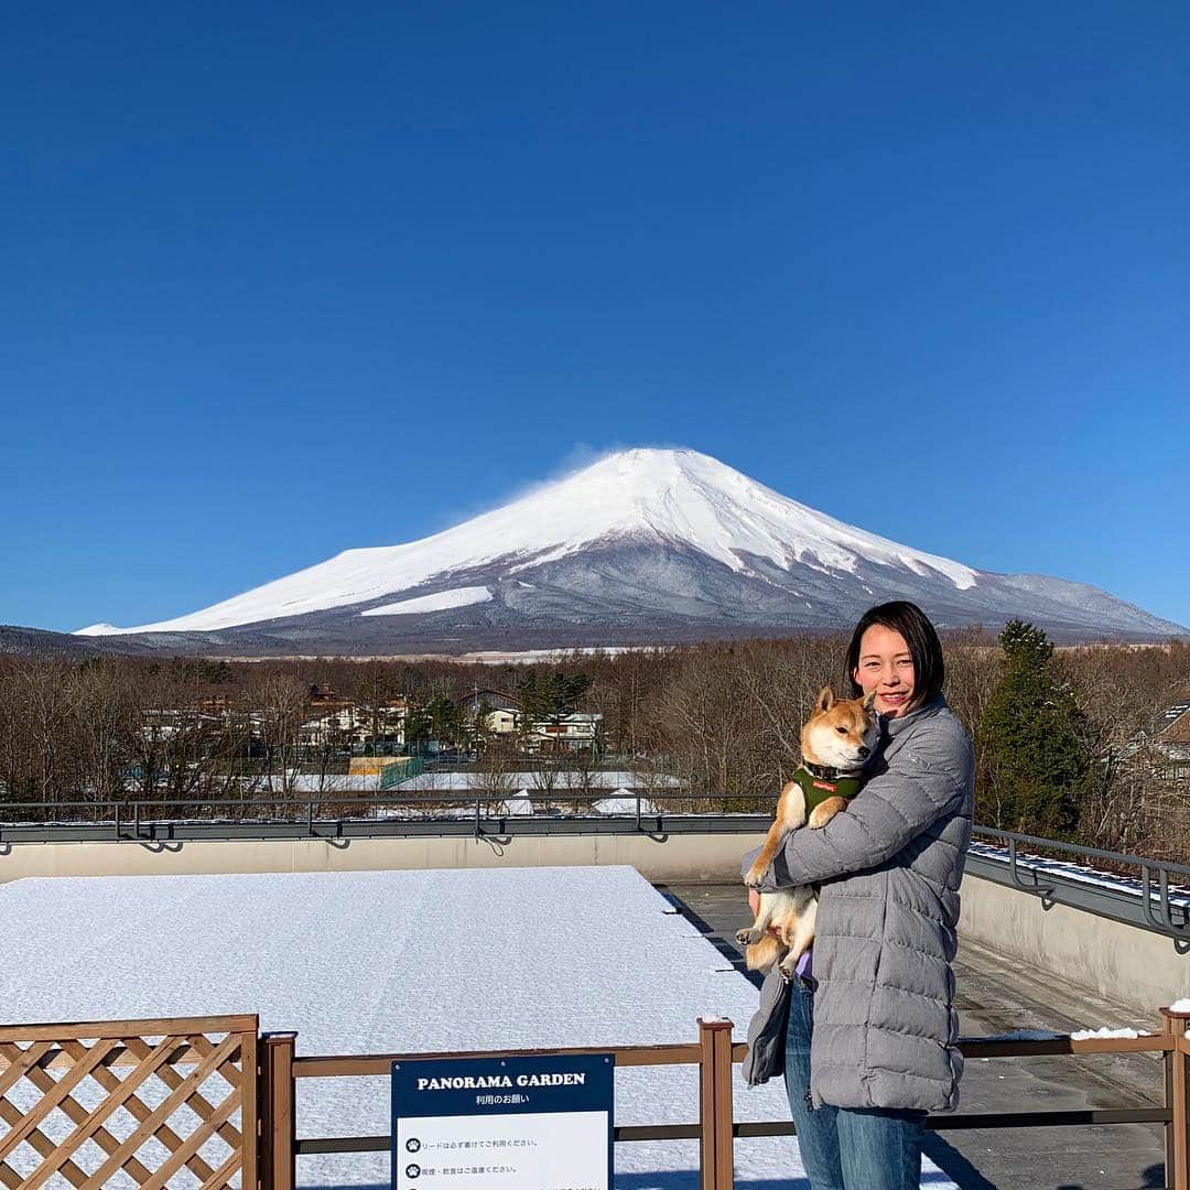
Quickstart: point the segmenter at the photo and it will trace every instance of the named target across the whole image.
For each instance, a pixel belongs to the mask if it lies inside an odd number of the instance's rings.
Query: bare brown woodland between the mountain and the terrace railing
[[[571,654],[566,671],[590,678],[577,709],[602,715],[606,754],[637,784],[656,789],[676,778],[697,798],[691,804],[751,809],[759,795],[775,795],[796,765],[801,724],[820,687],[846,690],[845,646],[840,635],[802,634]],[[946,634],[944,649],[947,700],[973,734],[998,681],[1000,650],[978,628]],[[1081,646],[1060,649],[1057,659],[1086,718],[1100,777],[1081,807],[1082,837],[1186,859],[1186,782],[1172,779],[1169,757],[1140,733],[1164,708],[1190,697],[1190,646]],[[468,694],[493,685],[514,690],[531,672],[541,685],[557,669],[4,656],[0,800],[194,803],[261,790],[280,797],[292,791],[299,764],[314,769],[330,789],[339,751],[331,746],[314,754],[300,743],[312,685],[351,694],[371,708],[374,737],[390,732],[384,707],[406,696],[414,710],[437,708],[434,729],[461,744],[477,734],[456,714]],[[493,798],[512,793],[511,774],[531,766],[516,756],[516,745],[527,751],[532,743],[544,749],[534,754],[534,793],[559,804],[595,796],[597,765],[589,754],[551,749],[530,735],[526,724],[518,739],[491,743],[475,778],[481,793]],[[984,772],[981,788],[994,794],[995,785],[995,774]]]

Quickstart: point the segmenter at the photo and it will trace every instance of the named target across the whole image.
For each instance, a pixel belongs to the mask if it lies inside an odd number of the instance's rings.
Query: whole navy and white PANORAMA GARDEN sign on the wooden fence
[[[393,1190],[610,1190],[612,1054],[393,1063]]]

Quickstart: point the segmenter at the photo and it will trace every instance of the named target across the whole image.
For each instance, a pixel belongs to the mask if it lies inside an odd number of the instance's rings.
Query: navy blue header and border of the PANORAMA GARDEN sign
[[[585,1073],[581,1086],[533,1086],[525,1103],[476,1103],[477,1094],[502,1094],[494,1089],[462,1088],[418,1091],[419,1078],[484,1078],[507,1075],[514,1084],[518,1075]],[[514,1088],[515,1090],[515,1088]],[[396,1178],[401,1155],[396,1151],[397,1121],[413,1116],[491,1116],[550,1111],[607,1113],[607,1184],[615,1184],[615,1054],[576,1053],[508,1058],[407,1058],[393,1063],[392,1126],[389,1146],[390,1185]]]

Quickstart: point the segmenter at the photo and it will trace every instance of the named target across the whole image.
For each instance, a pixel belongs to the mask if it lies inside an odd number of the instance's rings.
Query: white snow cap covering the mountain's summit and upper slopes
[[[432,537],[347,550],[173,620],[134,628],[94,625],[80,634],[214,631],[367,603],[496,562],[516,571],[626,541],[684,546],[738,572],[750,570],[752,556],[782,569],[801,562],[825,572],[854,572],[866,559],[917,575],[935,571],[960,590],[977,577],[969,566],[815,512],[709,455],[640,447],[607,455]]]

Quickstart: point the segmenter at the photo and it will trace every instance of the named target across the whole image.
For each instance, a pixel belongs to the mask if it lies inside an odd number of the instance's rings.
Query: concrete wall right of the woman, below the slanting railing
[[[1178,954],[1172,939],[1083,909],[1044,909],[1039,897],[992,881],[963,882],[959,934],[1142,1016],[1190,996],[1190,956]]]

